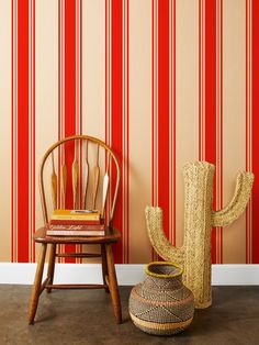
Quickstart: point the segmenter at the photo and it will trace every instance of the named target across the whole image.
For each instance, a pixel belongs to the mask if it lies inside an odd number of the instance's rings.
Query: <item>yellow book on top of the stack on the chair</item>
[[[101,214],[98,210],[54,210],[52,220],[86,220],[86,221],[99,221]]]

